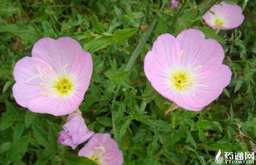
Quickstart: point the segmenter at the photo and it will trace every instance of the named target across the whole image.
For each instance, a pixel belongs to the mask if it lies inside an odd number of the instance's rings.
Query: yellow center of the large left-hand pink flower
[[[73,81],[70,77],[61,76],[52,85],[54,91],[61,96],[68,95],[73,90]]]

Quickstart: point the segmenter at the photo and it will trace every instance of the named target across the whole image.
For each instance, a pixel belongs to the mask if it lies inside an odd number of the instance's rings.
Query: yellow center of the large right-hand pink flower
[[[186,91],[194,85],[191,72],[186,70],[175,70],[170,76],[170,85],[178,91]]]

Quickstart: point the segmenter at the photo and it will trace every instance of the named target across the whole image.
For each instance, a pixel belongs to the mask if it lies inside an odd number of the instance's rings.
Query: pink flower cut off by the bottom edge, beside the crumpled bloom
[[[99,165],[122,165],[123,153],[110,134],[94,134],[79,152]]]

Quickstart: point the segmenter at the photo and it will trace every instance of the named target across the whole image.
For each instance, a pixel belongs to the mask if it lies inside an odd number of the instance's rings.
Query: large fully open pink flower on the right
[[[176,38],[158,36],[145,56],[145,75],[163,97],[189,110],[210,104],[225,86],[231,71],[222,64],[224,51],[214,39],[204,39],[195,29],[182,31]]]

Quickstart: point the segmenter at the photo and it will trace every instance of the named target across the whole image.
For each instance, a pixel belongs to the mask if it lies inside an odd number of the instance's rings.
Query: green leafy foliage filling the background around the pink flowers
[[[202,15],[220,1],[1,0],[0,164],[94,164],[78,149],[57,143],[66,117],[31,113],[15,103],[12,69],[31,55],[37,39],[71,36],[90,52],[94,72],[80,109],[90,130],[111,133],[124,165],[214,164],[216,152],[256,150],[256,43],[254,1],[229,0],[244,9],[234,30],[210,29]],[[203,111],[170,107],[149,84],[143,60],[157,35],[204,31],[225,48],[233,80]]]

